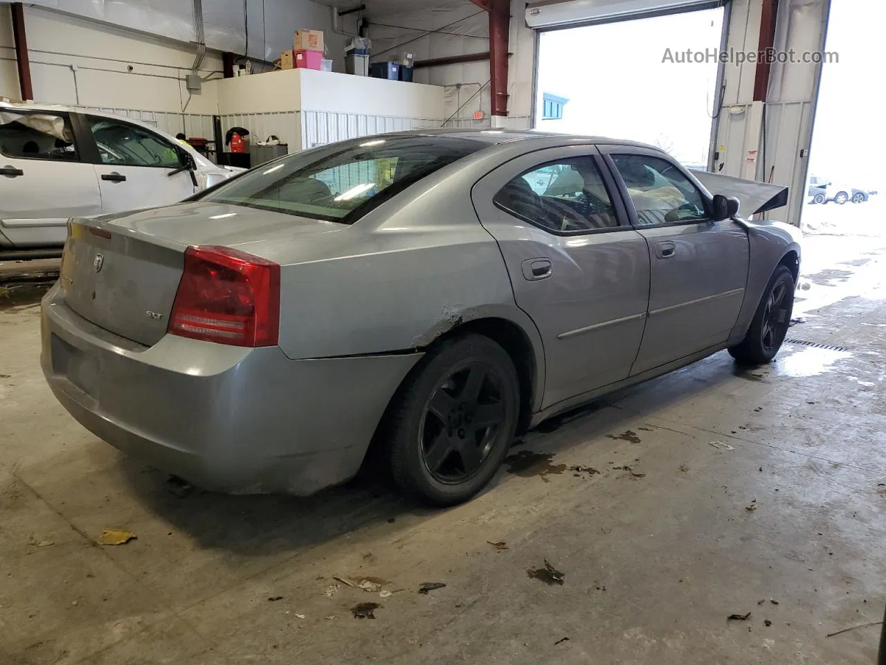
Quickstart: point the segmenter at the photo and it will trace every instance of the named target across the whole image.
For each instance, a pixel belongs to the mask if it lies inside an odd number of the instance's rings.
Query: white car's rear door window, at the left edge
[[[29,160],[78,160],[74,131],[54,113],[0,111],[0,153]]]

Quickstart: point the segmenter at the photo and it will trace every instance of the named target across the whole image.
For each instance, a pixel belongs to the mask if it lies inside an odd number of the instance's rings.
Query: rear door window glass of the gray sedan
[[[494,202],[555,233],[618,226],[609,192],[592,157],[551,161],[524,171],[495,194]]]

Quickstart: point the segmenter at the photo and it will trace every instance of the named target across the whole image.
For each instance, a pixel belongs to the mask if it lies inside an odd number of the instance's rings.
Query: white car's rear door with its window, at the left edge
[[[68,113],[0,109],[0,246],[60,247],[68,217],[101,215],[77,139]]]

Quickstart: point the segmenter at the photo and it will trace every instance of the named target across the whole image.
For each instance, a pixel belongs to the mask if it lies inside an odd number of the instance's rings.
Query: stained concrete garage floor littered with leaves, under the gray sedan
[[[886,603],[886,240],[806,252],[789,336],[848,350],[786,344],[750,372],[720,353],[611,395],[447,511],[368,480],[170,485],[68,417],[34,300],[0,298],[0,663],[873,662],[878,628],[827,636]],[[109,527],[137,539],[97,545]],[[527,575],[545,559],[563,585]]]

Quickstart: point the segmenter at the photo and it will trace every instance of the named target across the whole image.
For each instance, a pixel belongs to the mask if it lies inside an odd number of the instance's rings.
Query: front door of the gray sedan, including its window
[[[649,243],[649,320],[632,374],[723,344],[748,281],[747,231],[715,222],[707,192],[663,153],[601,146]]]

